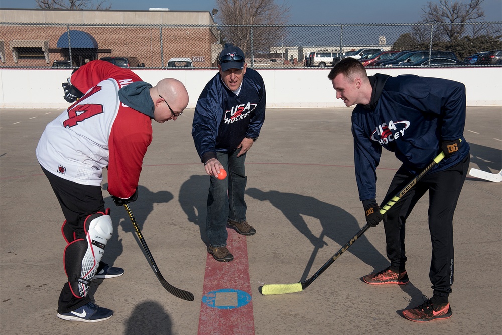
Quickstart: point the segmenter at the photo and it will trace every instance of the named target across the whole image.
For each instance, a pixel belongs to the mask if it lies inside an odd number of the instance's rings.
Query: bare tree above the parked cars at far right
[[[469,3],[458,0],[439,0],[439,3],[429,1],[422,9],[422,19],[425,23],[440,24],[437,30],[447,40],[457,40],[464,34],[465,25],[462,23],[484,18],[481,7],[483,2],[484,0],[469,0]]]

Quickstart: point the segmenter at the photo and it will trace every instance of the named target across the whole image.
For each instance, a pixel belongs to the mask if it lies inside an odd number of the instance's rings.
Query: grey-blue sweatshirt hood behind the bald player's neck
[[[155,105],[150,96],[152,85],[144,81],[136,81],[118,90],[120,102],[150,118],[154,118]]]

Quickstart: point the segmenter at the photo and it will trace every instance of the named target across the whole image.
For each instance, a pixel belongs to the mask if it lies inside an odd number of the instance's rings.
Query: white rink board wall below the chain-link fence
[[[267,108],[345,107],[327,78],[327,69],[258,70],[265,81]],[[0,69],[0,108],[66,108],[61,83],[72,70]],[[185,84],[190,96],[188,108],[195,108],[205,84],[216,70],[134,70],[155,85],[172,77]],[[460,81],[467,88],[467,106],[502,105],[502,67],[444,69],[368,69],[368,75],[416,74]]]

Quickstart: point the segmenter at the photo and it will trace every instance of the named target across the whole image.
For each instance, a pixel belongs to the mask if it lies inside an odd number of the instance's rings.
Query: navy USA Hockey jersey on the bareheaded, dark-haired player
[[[465,86],[439,79],[376,74],[369,77],[373,93],[369,105],[352,112],[354,160],[359,199],[376,197],[376,167],[382,147],[395,153],[413,174],[441,152],[441,142],[461,139],[458,152],[443,159],[429,173],[459,163],[469,153],[463,137]]]

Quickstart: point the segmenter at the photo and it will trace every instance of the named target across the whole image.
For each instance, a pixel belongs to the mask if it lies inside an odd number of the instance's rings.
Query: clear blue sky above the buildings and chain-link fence
[[[434,0],[432,0],[434,1]],[[468,0],[463,0],[467,2]],[[208,11],[213,0],[111,0],[113,10],[148,10],[169,8],[172,11]],[[292,24],[325,23],[411,23],[421,19],[427,0],[276,0],[291,7]],[[502,1],[485,0],[486,21],[502,21]],[[35,8],[35,0],[0,0],[0,8]],[[360,13],[358,13],[358,11]],[[215,21],[218,22],[217,15]]]

